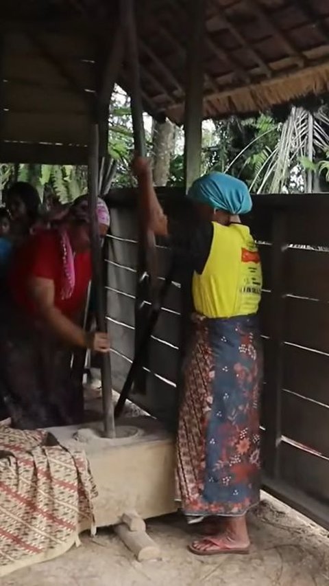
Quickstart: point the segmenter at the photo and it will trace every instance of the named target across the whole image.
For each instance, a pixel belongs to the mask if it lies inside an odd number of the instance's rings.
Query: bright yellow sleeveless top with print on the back
[[[213,223],[214,235],[202,275],[193,275],[195,311],[206,317],[257,313],[262,289],[258,249],[249,228]]]

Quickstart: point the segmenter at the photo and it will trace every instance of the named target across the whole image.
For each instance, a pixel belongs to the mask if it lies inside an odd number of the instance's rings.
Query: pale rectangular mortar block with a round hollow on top
[[[99,429],[101,422],[80,426],[53,427],[53,436],[64,446],[84,449],[97,491],[97,527],[115,525],[127,510],[136,510],[143,519],[177,510],[175,496],[175,442],[162,425],[150,417],[123,418],[117,425],[138,428],[129,439],[80,442],[79,429]]]

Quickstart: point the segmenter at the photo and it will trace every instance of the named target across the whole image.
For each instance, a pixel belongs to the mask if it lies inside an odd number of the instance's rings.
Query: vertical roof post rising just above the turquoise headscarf
[[[185,152],[186,192],[201,172],[202,114],[204,86],[204,41],[206,14],[204,0],[194,0],[188,8],[188,47],[186,55]]]

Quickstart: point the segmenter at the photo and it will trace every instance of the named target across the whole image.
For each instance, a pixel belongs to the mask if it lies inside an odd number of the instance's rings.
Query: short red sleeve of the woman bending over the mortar
[[[31,243],[30,277],[41,277],[56,281],[60,263],[60,246],[54,232],[40,232]]]

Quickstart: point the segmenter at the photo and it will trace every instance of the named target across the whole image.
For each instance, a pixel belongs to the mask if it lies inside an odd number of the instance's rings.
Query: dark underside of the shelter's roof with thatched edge
[[[178,123],[191,2],[136,0],[145,110]],[[205,2],[204,117],[245,115],[329,90],[328,0]],[[60,150],[62,159],[80,160],[117,2],[2,0],[1,21],[1,159],[20,150],[31,160],[47,151],[51,160]],[[130,91],[125,63],[117,81]]]

